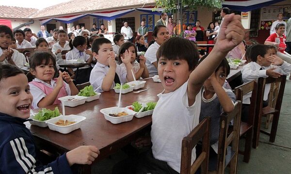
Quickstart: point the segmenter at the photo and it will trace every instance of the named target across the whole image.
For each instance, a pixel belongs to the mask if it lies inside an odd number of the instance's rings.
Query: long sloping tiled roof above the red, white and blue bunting
[[[155,0],[71,0],[39,10],[32,18],[94,13],[131,7],[154,5]]]

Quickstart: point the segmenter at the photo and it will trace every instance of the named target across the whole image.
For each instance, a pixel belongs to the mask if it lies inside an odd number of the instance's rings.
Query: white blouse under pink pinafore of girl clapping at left
[[[57,83],[53,79],[50,80],[50,84],[44,82],[41,79],[37,79],[37,78],[34,78],[32,81],[41,82],[42,84],[45,84],[45,85],[52,87],[52,88],[55,88],[57,86]],[[64,83],[65,83],[65,92],[67,93],[67,95],[71,95],[71,90],[70,90],[69,85],[65,81],[64,81]],[[33,96],[32,108],[36,109],[36,108],[38,108],[38,106],[37,106],[38,102],[42,98],[46,97],[47,95],[41,89],[34,86],[32,83],[29,83],[29,87],[30,87],[30,92]]]

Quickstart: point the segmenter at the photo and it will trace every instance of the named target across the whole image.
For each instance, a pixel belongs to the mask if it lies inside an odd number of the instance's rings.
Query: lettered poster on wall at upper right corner
[[[283,14],[283,19],[291,17],[291,5],[264,7],[261,10],[261,21],[277,20],[277,15]]]

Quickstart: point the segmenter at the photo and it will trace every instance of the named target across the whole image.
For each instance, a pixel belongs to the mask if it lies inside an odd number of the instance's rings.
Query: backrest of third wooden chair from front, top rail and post
[[[255,80],[242,84],[234,89],[236,99],[242,101],[242,96],[252,92],[250,98],[250,109],[248,114],[248,124],[254,125],[256,115],[256,103],[258,95],[258,84]]]

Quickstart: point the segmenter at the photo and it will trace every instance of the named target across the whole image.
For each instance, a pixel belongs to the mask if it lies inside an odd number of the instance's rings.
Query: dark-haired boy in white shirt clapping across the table
[[[115,83],[124,84],[133,80],[128,52],[122,57],[126,68],[116,64],[111,41],[106,38],[96,39],[92,44],[92,52],[97,63],[91,71],[90,83],[98,93],[113,89]]]

